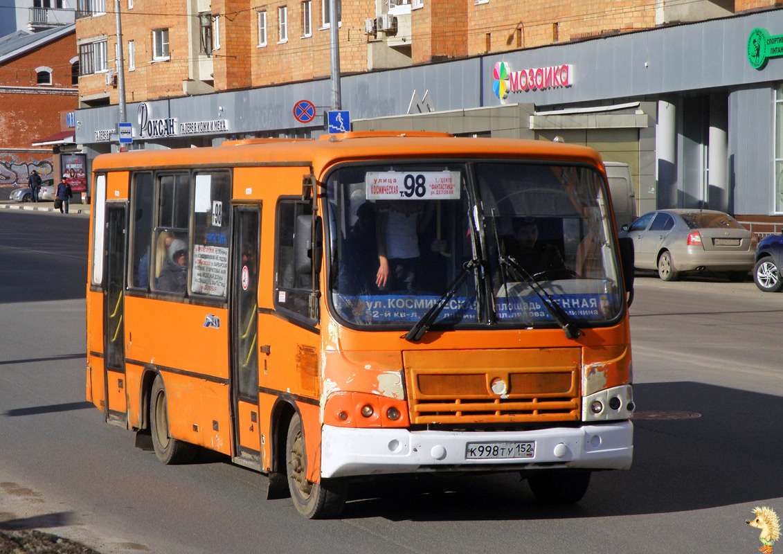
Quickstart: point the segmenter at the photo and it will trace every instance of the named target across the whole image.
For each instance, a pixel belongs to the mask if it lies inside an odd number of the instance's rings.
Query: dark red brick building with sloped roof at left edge
[[[55,176],[51,147],[33,147],[62,130],[61,112],[78,104],[74,25],[0,38],[0,187],[26,185],[30,172]],[[0,197],[8,195],[3,192]]]

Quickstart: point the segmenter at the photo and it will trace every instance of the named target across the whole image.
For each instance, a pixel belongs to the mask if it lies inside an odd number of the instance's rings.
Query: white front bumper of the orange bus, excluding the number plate
[[[533,431],[449,432],[323,425],[321,477],[466,469],[629,469],[630,421]],[[535,441],[532,458],[467,459],[467,443]]]

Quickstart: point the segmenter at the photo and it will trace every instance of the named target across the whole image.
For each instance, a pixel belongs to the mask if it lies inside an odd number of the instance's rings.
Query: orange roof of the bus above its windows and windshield
[[[244,139],[220,147],[101,154],[93,161],[92,170],[302,165],[312,167],[319,176],[337,162],[388,158],[515,158],[582,161],[602,167],[600,154],[592,148],[544,140],[466,138],[428,132],[348,132],[320,139]]]

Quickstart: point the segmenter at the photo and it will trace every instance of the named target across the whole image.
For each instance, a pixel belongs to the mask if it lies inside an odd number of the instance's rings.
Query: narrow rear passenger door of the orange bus
[[[127,421],[125,395],[125,207],[106,205],[106,236],[104,237],[103,282],[103,383],[106,404],[104,416],[110,423],[124,425]]]

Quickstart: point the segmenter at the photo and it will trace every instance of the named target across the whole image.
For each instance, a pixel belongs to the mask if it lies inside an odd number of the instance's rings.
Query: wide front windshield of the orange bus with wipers
[[[433,306],[435,328],[608,324],[622,286],[603,182],[529,161],[337,168],[330,306],[360,328],[410,328]]]

